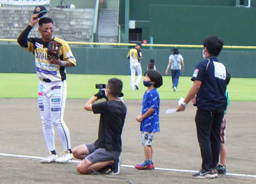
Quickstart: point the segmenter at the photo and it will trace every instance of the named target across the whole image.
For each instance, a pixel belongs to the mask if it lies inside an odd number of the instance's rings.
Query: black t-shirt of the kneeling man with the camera
[[[96,148],[121,152],[121,133],[127,108],[123,102],[111,100],[92,105],[93,113],[100,113]]]

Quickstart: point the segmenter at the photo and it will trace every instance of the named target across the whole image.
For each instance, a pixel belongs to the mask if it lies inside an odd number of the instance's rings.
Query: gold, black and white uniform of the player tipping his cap
[[[44,133],[48,151],[55,151],[54,128],[55,126],[64,150],[71,150],[69,129],[63,121],[63,113],[67,96],[66,70],[64,66],[51,64],[47,59],[49,42],[41,38],[29,38],[32,29],[28,26],[19,36],[20,46],[35,56],[36,74],[38,84],[38,105],[41,117],[42,132]],[[62,39],[54,37],[54,41],[61,43],[59,58],[69,60],[76,65],[69,44]]]

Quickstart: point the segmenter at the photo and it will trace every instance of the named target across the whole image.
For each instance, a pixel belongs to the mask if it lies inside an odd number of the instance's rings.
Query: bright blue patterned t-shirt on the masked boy
[[[150,91],[145,91],[143,95],[142,110],[143,115],[148,109],[155,108],[155,111],[148,117],[146,117],[140,123],[140,131],[147,132],[159,132],[159,105],[160,99],[157,89],[152,89]]]

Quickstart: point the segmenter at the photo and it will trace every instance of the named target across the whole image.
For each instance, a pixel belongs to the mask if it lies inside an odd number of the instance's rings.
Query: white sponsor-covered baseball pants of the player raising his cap
[[[48,151],[55,150],[53,125],[60,136],[63,150],[71,149],[69,129],[63,121],[66,97],[66,80],[49,83],[39,81],[38,105]]]

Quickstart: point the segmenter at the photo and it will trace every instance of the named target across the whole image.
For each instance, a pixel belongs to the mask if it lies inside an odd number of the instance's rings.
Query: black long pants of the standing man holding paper
[[[224,109],[197,110],[195,117],[197,138],[201,150],[202,168],[205,170],[215,168],[219,162],[223,116]]]

